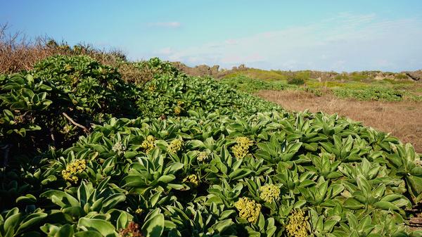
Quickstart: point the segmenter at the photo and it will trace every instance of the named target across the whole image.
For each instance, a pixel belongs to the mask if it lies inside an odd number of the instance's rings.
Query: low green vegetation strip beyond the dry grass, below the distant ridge
[[[422,101],[421,83],[402,79],[367,78],[353,80],[346,77],[322,82],[305,74],[273,79],[265,72],[257,76],[237,73],[226,75],[220,82],[250,93],[261,90],[293,90],[306,91],[316,96],[333,95],[337,98],[352,98],[359,101]]]

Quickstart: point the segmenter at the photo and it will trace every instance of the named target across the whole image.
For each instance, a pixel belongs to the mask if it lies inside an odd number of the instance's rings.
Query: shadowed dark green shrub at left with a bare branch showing
[[[0,76],[0,139],[15,150],[69,146],[92,122],[134,117],[136,93],[87,56],[48,58],[30,72]]]

